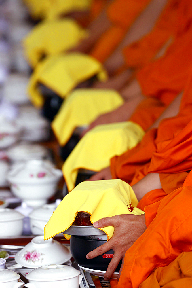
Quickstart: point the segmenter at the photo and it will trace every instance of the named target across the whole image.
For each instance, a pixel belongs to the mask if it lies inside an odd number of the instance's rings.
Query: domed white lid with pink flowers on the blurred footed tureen
[[[53,179],[59,179],[62,176],[62,171],[53,168],[53,166],[43,160],[28,160],[8,173],[8,180],[10,182],[49,182]]]

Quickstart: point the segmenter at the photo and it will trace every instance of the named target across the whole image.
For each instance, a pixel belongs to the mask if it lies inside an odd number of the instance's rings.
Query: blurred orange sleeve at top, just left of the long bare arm
[[[115,0],[107,9],[111,27],[98,39],[90,55],[104,62],[122,41],[127,30],[150,0]]]

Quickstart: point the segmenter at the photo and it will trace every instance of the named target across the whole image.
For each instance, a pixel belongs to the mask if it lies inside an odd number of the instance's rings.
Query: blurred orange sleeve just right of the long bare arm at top
[[[123,49],[127,67],[142,67],[153,59],[170,37],[174,39],[179,4],[180,0],[169,0],[151,32]]]

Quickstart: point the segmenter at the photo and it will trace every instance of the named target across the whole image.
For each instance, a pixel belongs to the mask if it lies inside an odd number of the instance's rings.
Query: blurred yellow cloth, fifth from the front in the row
[[[71,18],[42,21],[23,40],[24,53],[30,65],[35,67],[43,55],[64,52],[87,35],[88,32]]]

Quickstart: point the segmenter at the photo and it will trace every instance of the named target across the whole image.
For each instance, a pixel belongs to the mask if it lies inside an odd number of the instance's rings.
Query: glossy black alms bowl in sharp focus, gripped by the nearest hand
[[[94,259],[87,259],[86,255],[106,243],[106,240],[92,240],[85,238],[85,236],[72,236],[70,240],[70,249],[71,254],[75,261],[83,267],[94,269],[94,270],[102,270],[106,271],[109,262],[111,261],[114,251],[109,250],[105,252],[103,255],[97,256]],[[115,272],[119,272],[121,267],[121,262],[119,262]]]

